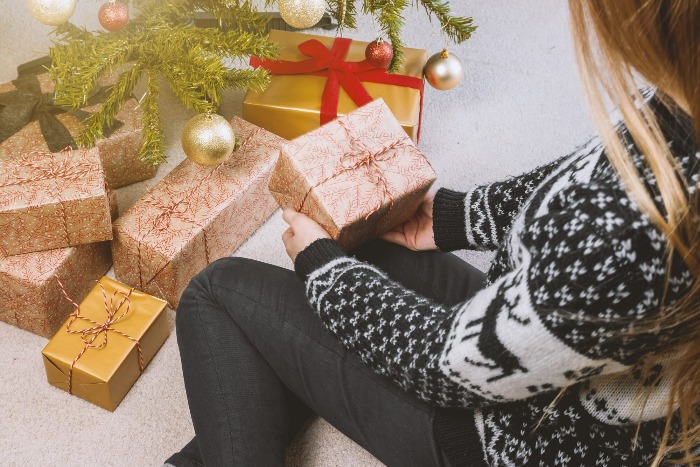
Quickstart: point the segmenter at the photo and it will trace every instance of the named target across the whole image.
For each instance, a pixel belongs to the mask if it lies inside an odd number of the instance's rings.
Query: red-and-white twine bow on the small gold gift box
[[[144,363],[143,363],[143,351],[141,350],[141,343],[138,341],[138,339],[131,337],[130,335],[115,329],[112,327],[113,324],[124,318],[129,311],[131,310],[131,300],[129,299],[129,296],[131,293],[134,291],[133,288],[129,290],[129,293],[124,293],[120,290],[116,290],[112,296],[108,299],[107,298],[107,292],[105,291],[104,286],[102,285],[101,282],[97,282],[97,284],[100,286],[100,289],[102,289],[102,297],[104,298],[104,304],[105,304],[105,312],[107,313],[107,319],[105,320],[104,323],[99,323],[97,321],[94,321],[86,316],[82,316],[80,314],[80,305],[75,303],[69,296],[68,293],[66,292],[66,289],[63,287],[63,283],[61,282],[61,279],[58,278],[54,274],[54,277],[56,278],[56,281],[58,282],[59,287],[61,288],[61,292],[63,292],[63,296],[66,297],[66,300],[71,302],[75,306],[75,311],[70,314],[70,320],[68,323],[66,323],[66,332],[68,334],[79,334],[80,338],[82,339],[83,343],[85,344],[85,347],[83,347],[83,350],[80,351],[78,356],[73,359],[73,361],[70,364],[70,367],[68,368],[68,393],[73,394],[73,368],[75,367],[75,364],[78,363],[78,360],[87,352],[89,348],[93,349],[101,349],[102,347],[105,347],[107,345],[107,335],[108,333],[115,332],[121,336],[126,337],[129,340],[132,340],[133,342],[136,343],[136,349],[138,350],[139,353],[139,372],[143,373],[144,370]],[[123,295],[124,298],[121,299],[119,304],[115,307],[115,299],[117,295]],[[117,316],[115,318],[115,315],[119,311],[119,309],[126,303],[126,309],[124,312]],[[80,331],[75,331],[72,330],[71,324],[73,324],[74,321],[81,319],[83,321],[86,321],[90,324],[93,325],[93,327],[83,329]],[[94,344],[95,340],[102,335],[103,339],[102,342],[99,345]],[[91,337],[90,337],[91,336]]]

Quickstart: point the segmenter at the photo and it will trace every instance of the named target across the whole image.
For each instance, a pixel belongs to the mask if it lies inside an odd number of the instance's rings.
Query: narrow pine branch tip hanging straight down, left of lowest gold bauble
[[[157,71],[146,71],[146,95],[141,101],[143,109],[143,145],[139,152],[141,162],[147,166],[155,166],[165,162],[165,132],[160,120],[158,98],[160,88]]]

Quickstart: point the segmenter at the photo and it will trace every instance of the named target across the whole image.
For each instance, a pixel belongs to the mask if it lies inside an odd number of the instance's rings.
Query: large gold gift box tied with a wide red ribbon
[[[263,66],[271,70],[272,79],[270,85],[264,91],[248,91],[243,101],[243,118],[261,126],[277,135],[287,139],[296,138],[322,123],[322,101],[329,82],[332,85],[335,80],[329,81],[327,66],[324,70],[324,61],[344,60],[346,62],[361,62],[365,60],[365,48],[367,42],[351,41],[349,39],[312,36],[308,34],[270,31],[270,40],[278,44],[280,61],[290,61],[302,64],[292,65],[294,71],[299,69],[320,69],[320,72],[297,74],[276,74],[281,71],[272,62],[259,62],[252,60],[254,66]],[[300,45],[309,40],[316,40],[322,44],[319,48],[302,46],[310,55],[300,50]],[[347,47],[347,53],[344,49]],[[321,50],[322,49],[322,50]],[[332,52],[330,51],[332,50]],[[336,58],[334,56],[338,55]],[[309,60],[314,60],[311,64]],[[420,130],[421,105],[423,94],[423,68],[428,60],[428,53],[420,49],[404,49],[404,63],[398,74],[387,74],[384,70],[374,69],[366,65],[351,65],[360,67],[363,71],[350,77],[352,80],[360,80],[366,94],[362,92],[354,96],[355,99],[383,98],[394,116],[400,122],[406,133],[414,140],[418,140]],[[309,66],[303,65],[309,63]],[[320,65],[319,65],[320,64]],[[334,63],[333,66],[337,66]],[[372,82],[372,80],[379,82]],[[342,83],[344,80],[341,79]],[[387,81],[397,84],[387,84]],[[415,86],[415,87],[411,87]],[[349,95],[342,84],[337,91],[328,90],[333,96],[338,96],[336,113],[345,115],[355,110],[358,105],[353,96]],[[331,107],[333,107],[331,105]],[[323,120],[325,122],[327,120]]]

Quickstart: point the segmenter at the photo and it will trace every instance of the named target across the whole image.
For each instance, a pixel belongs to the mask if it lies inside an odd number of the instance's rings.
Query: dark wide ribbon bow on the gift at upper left
[[[52,93],[41,92],[41,84],[36,75],[23,76],[12,81],[12,84],[15,90],[0,94],[0,143],[29,123],[39,121],[49,151],[58,152],[66,147],[78,149],[70,131],[56,115],[68,112],[82,121],[90,117],[90,113],[55,105]],[[107,88],[100,87],[90,96],[87,105],[102,103],[106,98]],[[109,129],[104,130],[104,136],[108,137],[122,125],[122,122],[115,120]]]

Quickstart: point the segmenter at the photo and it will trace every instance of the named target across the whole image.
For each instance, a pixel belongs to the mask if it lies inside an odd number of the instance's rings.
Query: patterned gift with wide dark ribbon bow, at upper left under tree
[[[111,84],[114,84],[114,79],[100,80],[102,86]],[[34,89],[36,92],[32,94],[26,89]],[[75,137],[80,132],[81,120],[102,106],[99,102],[89,100],[88,105],[79,112],[63,111],[59,107],[51,107],[50,96],[53,92],[54,83],[48,73],[24,76],[13,82],[0,84],[0,160],[31,151],[49,151],[42,126],[46,128],[47,122],[58,122],[65,131]],[[40,102],[36,106],[32,103],[27,104],[31,99]],[[29,121],[16,132],[3,128],[4,120],[12,117],[13,112],[25,114],[25,119]],[[118,123],[111,133],[108,133],[107,138],[97,141],[96,147],[100,150],[105,178],[111,188],[153,178],[156,174],[155,167],[146,167],[139,160],[143,142],[141,117],[142,111],[137,100],[128,99],[119,109],[116,115]],[[54,130],[49,128],[47,132],[52,134]],[[53,152],[57,152],[63,147],[54,149]]]

